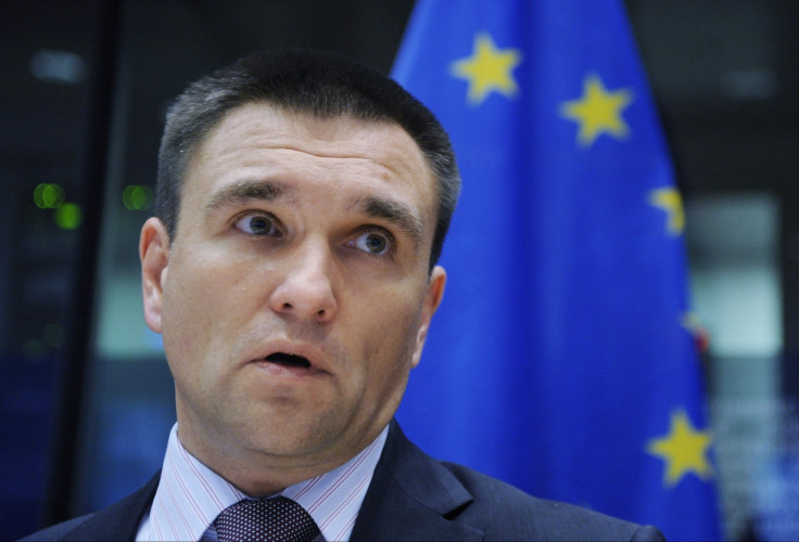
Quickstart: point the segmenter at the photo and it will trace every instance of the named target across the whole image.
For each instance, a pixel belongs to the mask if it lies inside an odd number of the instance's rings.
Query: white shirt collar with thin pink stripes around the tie
[[[186,451],[177,427],[175,424],[169,434],[158,489],[150,514],[139,526],[137,541],[216,540],[216,532],[208,531],[211,522],[223,509],[246,499]],[[386,427],[371,444],[334,470],[282,491],[308,511],[325,540],[350,540],[388,434]]]

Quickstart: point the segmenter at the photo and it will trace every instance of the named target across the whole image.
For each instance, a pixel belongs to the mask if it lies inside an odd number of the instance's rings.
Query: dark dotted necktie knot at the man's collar
[[[221,511],[214,527],[219,542],[310,542],[319,534],[310,514],[284,496],[239,501]]]

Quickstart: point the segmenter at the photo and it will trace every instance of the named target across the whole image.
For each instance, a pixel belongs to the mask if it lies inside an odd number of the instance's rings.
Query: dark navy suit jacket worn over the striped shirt
[[[158,475],[100,512],[23,540],[134,540]],[[392,422],[352,540],[662,540],[654,527],[535,499],[474,470],[432,460]],[[332,542],[332,541],[331,541]]]

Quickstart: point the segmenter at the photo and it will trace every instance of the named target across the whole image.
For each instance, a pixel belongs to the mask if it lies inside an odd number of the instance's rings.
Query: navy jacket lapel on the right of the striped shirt
[[[351,540],[482,540],[481,530],[451,519],[471,502],[455,476],[392,422]]]

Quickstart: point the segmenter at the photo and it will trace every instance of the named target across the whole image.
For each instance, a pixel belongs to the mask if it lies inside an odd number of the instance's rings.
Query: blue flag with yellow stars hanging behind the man
[[[621,2],[420,0],[393,76],[464,178],[401,424],[535,495],[718,539],[682,202]]]

